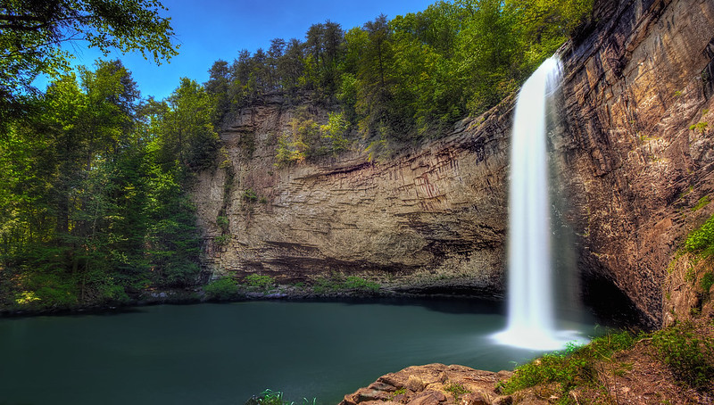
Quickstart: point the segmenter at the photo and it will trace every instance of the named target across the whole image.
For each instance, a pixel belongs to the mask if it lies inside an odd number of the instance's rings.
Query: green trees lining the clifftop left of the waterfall
[[[349,123],[342,128],[357,128],[367,144],[390,149],[499,103],[577,31],[592,3],[441,1],[346,31],[327,21],[311,26],[304,42],[276,38],[267,52],[244,50],[232,64],[215,62],[206,89],[216,100],[215,116],[223,118],[267,95],[325,103],[341,111]],[[292,126],[278,139],[279,164],[340,152],[360,140],[348,132],[340,139],[306,118]]]

